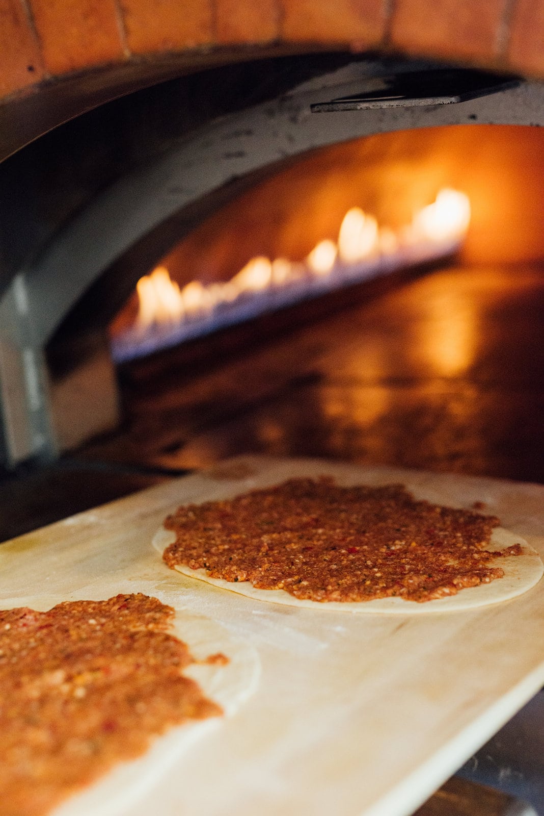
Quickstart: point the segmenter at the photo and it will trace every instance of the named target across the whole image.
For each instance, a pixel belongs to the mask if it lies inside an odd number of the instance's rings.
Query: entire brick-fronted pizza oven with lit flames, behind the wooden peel
[[[2,539],[243,453],[542,482],[542,11],[480,5],[0,0]],[[421,813],[544,807],[541,696]]]

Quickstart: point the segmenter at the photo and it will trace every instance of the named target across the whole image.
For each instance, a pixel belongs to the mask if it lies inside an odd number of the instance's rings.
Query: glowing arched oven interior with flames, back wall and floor
[[[59,401],[65,447],[167,472],[256,452],[542,480],[543,147],[512,126],[334,145],[169,236],[115,312],[104,276],[48,348],[59,393],[81,378],[77,418],[106,426],[70,439]],[[86,334],[97,302],[107,331]]]

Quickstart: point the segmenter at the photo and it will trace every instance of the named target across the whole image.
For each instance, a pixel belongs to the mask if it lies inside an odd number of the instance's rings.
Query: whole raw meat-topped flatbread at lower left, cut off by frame
[[[34,603],[0,611],[3,816],[125,813],[257,687],[243,641],[154,597]]]

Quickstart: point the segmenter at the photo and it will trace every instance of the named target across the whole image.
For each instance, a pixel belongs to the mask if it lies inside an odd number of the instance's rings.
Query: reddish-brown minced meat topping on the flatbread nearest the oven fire
[[[498,518],[415,501],[401,485],[340,487],[292,479],[226,501],[191,504],[165,521],[165,562],[310,601],[432,601],[501,578],[488,552]]]

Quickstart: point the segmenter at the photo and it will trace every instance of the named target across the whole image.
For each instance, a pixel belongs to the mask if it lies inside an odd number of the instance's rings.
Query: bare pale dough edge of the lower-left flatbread
[[[20,605],[41,610],[59,602],[44,605],[43,599],[20,600]],[[114,816],[124,813],[144,793],[161,783],[169,769],[197,739],[221,726],[224,717],[234,714],[257,689],[260,662],[255,650],[231,636],[221,624],[176,610],[170,632],[189,645],[197,660],[220,652],[229,658],[226,665],[194,663],[183,670],[185,676],[199,683],[208,698],[222,707],[224,716],[170,729],[164,736],[156,738],[145,755],[116,765],[98,782],[53,809],[50,816]]]

